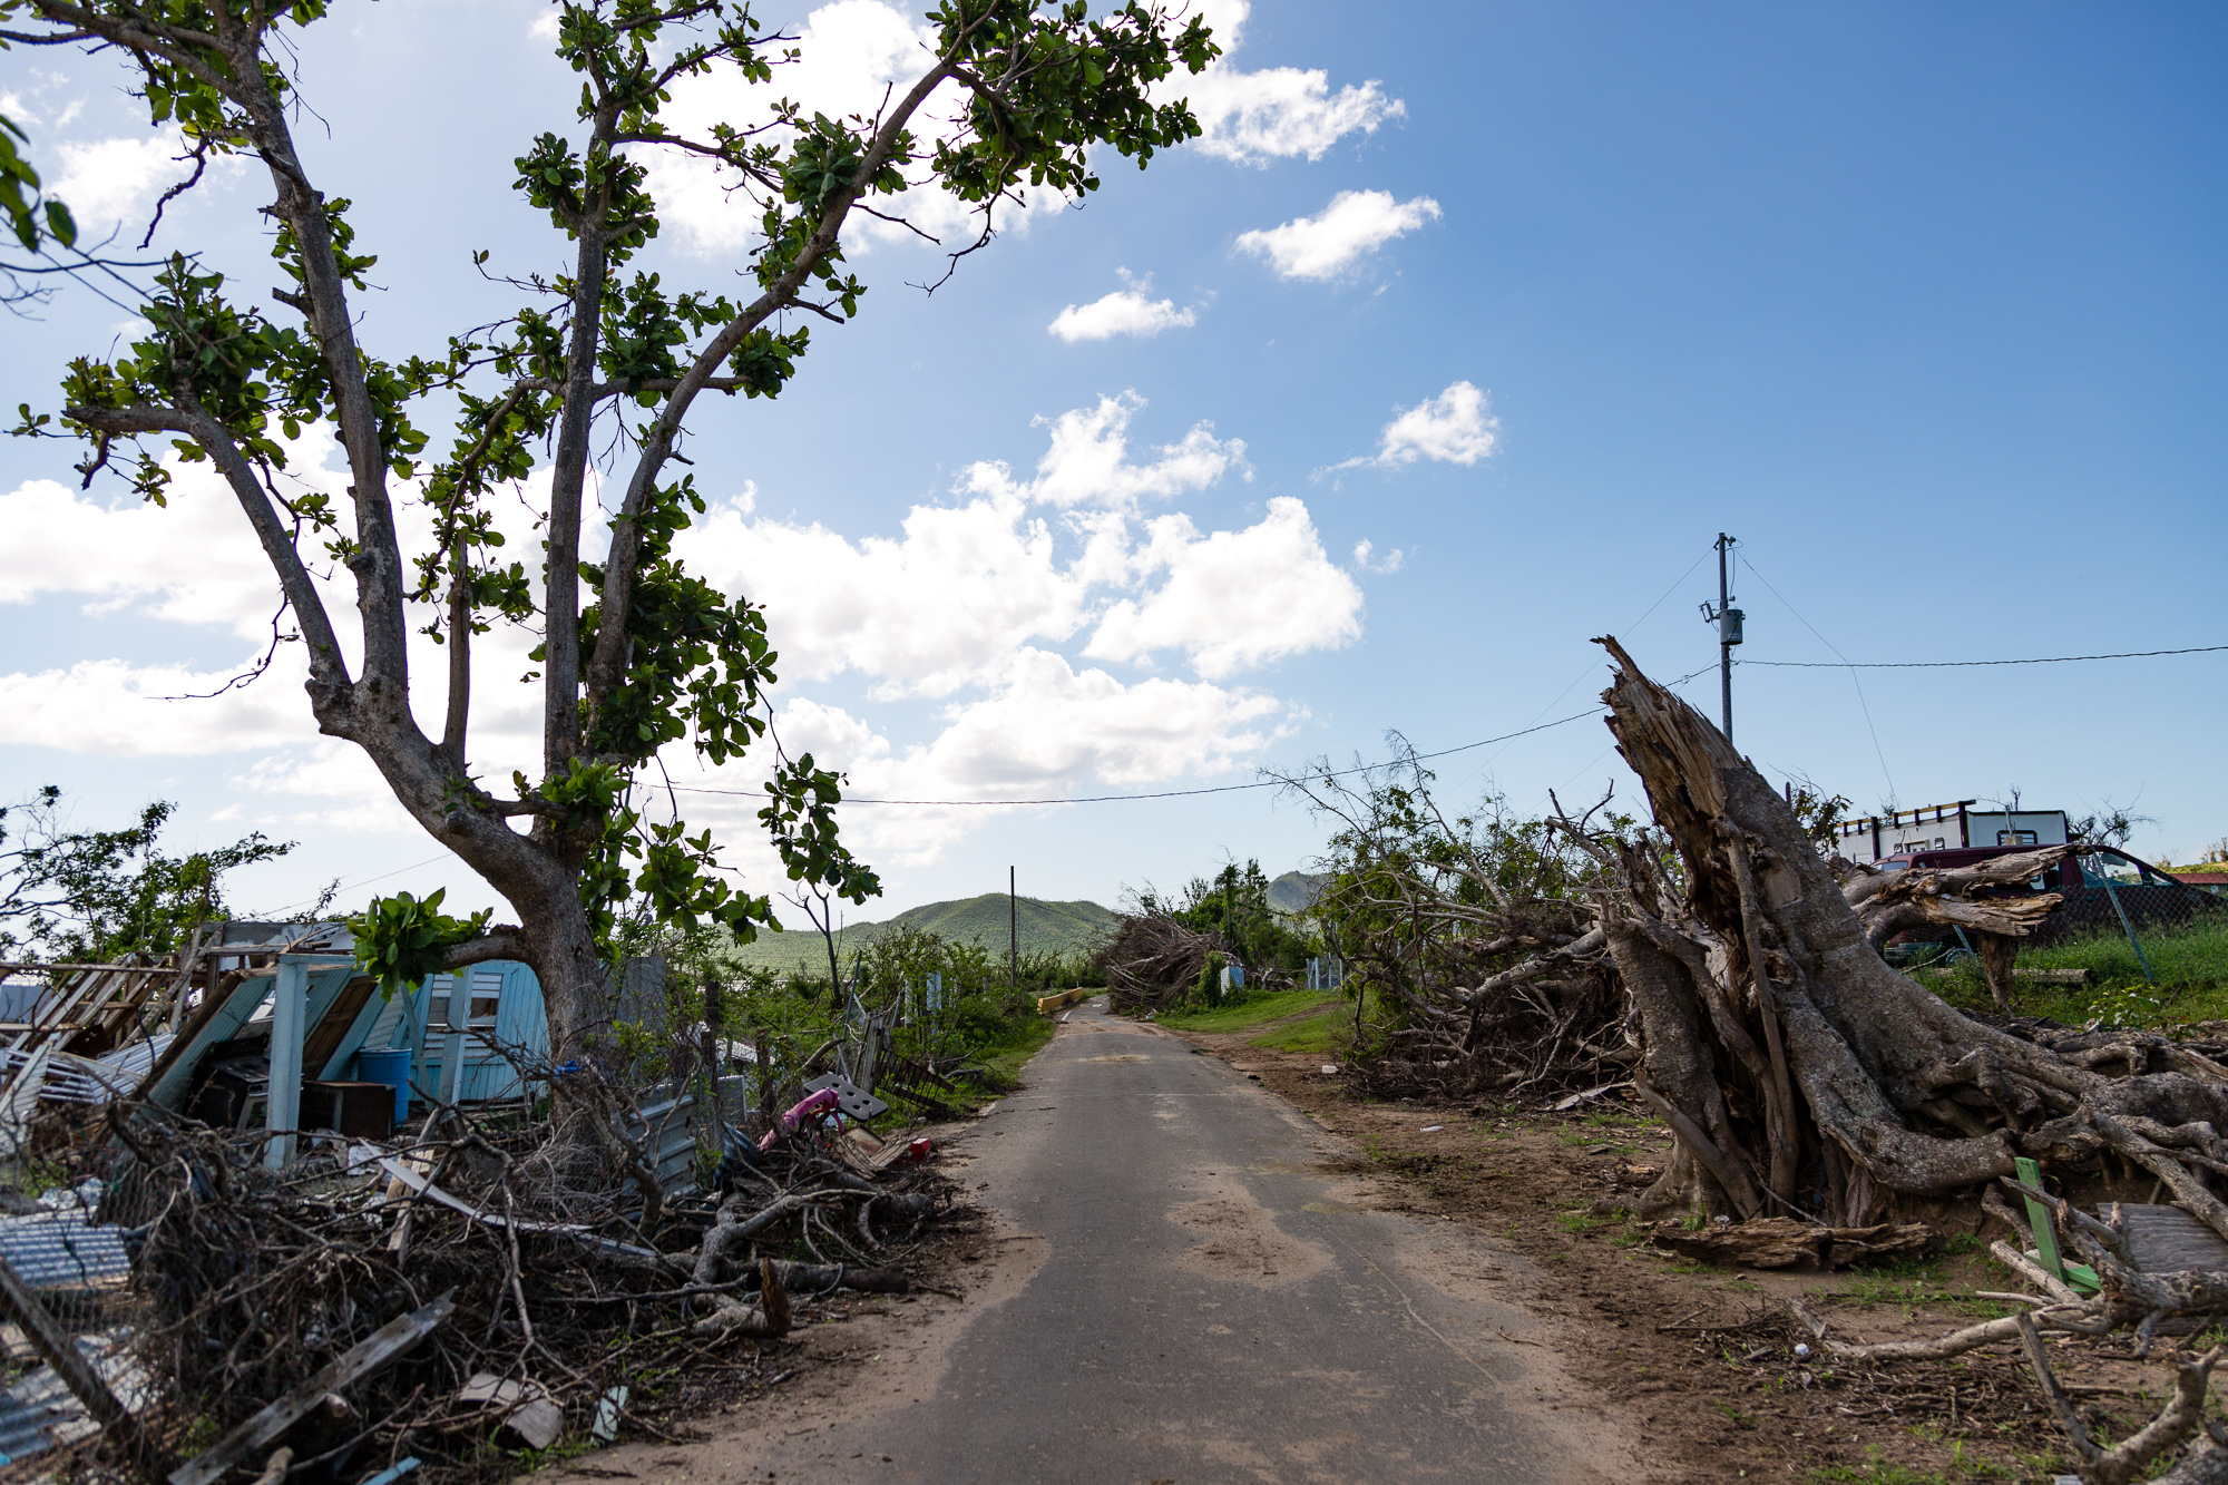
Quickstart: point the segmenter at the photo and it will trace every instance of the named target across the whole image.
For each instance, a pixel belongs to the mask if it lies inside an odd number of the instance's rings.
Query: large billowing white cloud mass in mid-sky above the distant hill
[[[1352,640],[1361,591],[1323,555],[1299,499],[1272,499],[1241,531],[1201,533],[1188,515],[1132,524],[1143,497],[1205,488],[1243,450],[1196,426],[1134,464],[1127,426],[1143,406],[1125,392],[1038,419],[1052,448],[1034,479],[976,464],[958,482],[967,499],[913,506],[900,537],[853,542],[717,506],[675,555],[766,604],[784,676],[858,671],[878,696],[954,696],[989,685],[1023,647],[1085,631],[1089,658],[1174,651],[1205,678]]]

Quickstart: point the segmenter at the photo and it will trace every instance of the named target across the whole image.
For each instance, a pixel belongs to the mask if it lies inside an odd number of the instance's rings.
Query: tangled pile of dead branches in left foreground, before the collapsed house
[[[51,1213],[0,1217],[0,1309],[47,1360],[0,1394],[0,1449],[98,1447],[174,1485],[261,1467],[281,1443],[321,1476],[417,1460],[463,1478],[490,1438],[608,1440],[682,1400],[644,1378],[731,1396],[764,1374],[737,1340],[778,1342],[836,1291],[905,1293],[949,1206],[927,1142],[829,1124],[840,1093],[804,1099],[764,1148],[731,1126],[709,1182],[662,1200],[548,1126],[466,1108],[405,1139],[330,1137],[283,1171],[261,1139],[147,1106],[40,1128],[42,1148],[67,1139],[45,1159],[102,1175]],[[624,1195],[584,1220],[595,1186]],[[187,1425],[205,1447],[185,1447]]]

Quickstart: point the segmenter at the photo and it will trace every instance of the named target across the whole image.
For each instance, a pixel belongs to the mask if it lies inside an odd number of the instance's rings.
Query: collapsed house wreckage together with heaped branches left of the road
[[[497,1478],[780,1380],[815,1309],[918,1287],[949,1182],[867,1130],[887,1104],[842,1068],[871,1081],[871,1041],[775,1117],[717,1066],[628,1088],[519,1048],[504,1097],[319,1084],[381,1003],[314,948],[125,965],[105,997],[49,972],[0,1023],[0,1463]]]

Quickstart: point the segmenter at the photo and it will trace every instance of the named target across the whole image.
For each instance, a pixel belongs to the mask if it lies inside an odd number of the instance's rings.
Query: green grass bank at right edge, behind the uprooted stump
[[[2108,1026],[2175,1026],[2228,1019],[2228,914],[2181,930],[2137,928],[2152,981],[2119,930],[2019,950],[2021,970],[2088,970],[2088,986],[2019,981],[2014,1006],[2023,1015],[2068,1026],[2103,1019]],[[1921,972],[1918,981],[1952,1006],[1990,1010],[1978,963]]]

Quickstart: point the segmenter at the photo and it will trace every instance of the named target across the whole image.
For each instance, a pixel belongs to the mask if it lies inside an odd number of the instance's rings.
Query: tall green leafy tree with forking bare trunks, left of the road
[[[492,328],[455,334],[437,355],[388,357],[368,339],[365,272],[348,198],[312,178],[292,125],[314,118],[294,96],[294,36],[325,0],[0,0],[7,40],[85,42],[127,58],[149,123],[176,125],[201,156],[252,156],[270,172],[272,254],[287,285],[281,312],[236,301],[223,274],[172,259],[140,314],[152,330],[111,359],[78,359],[58,417],[25,408],[20,433],[85,439],[87,479],[120,468],[160,502],[158,450],[207,459],[225,477],[301,629],[310,711],[379,767],[394,798],[477,870],[517,923],[443,919],[374,905],[365,957],[390,963],[383,925],[408,932],[412,970],[439,928],[450,968],[515,957],[535,968],[557,1061],[595,1052],[606,1021],[613,934],[626,905],[655,921],[720,923],[749,939],[771,923],[764,894],[720,874],[709,832],[653,821],[635,778],[659,747],[686,740],[726,763],[766,736],[775,656],[764,615],[729,600],[673,557],[673,537],[704,511],[673,464],[686,419],[709,397],[778,397],[809,348],[802,319],[849,323],[867,285],[844,265],[858,214],[902,212],[896,198],[936,185],[978,212],[983,245],[1023,190],[1098,187],[1089,156],[1145,165],[1199,134],[1156,82],[1216,54],[1196,18],[1130,0],[1092,16],[1083,0],[940,0],[922,76],[871,116],[829,118],[782,100],[775,62],[793,38],[766,33],[724,0],[590,0],[557,7],[557,56],[579,78],[550,98],[548,127],[524,140],[517,192],[548,219],[566,263],[512,279],[528,294]],[[726,71],[764,103],[706,134],[664,120],[677,80]],[[956,85],[958,118],[918,132],[922,105]],[[758,207],[742,265],[751,292],[675,290],[633,268],[657,236],[644,158],[659,149],[713,161]],[[481,263],[486,254],[481,254]],[[455,410],[437,448],[421,417]],[[348,495],[290,493],[281,435],[325,421],[348,457]],[[537,511],[546,549],[506,560],[490,502],[548,453]],[[608,555],[584,562],[595,450],[604,470]],[[684,459],[680,459],[684,462]],[[405,553],[399,482],[434,513],[434,535]],[[354,615],[328,611],[312,562],[354,578]],[[343,644],[341,622],[356,633]],[[408,638],[446,647],[439,727],[410,696]],[[472,769],[470,653],[495,624],[539,631],[539,776],[490,783]],[[356,660],[350,660],[356,656]],[[840,778],[811,756],[782,756],[762,823],[795,883],[862,903],[873,872],[842,847]],[[526,821],[517,829],[512,821]],[[570,1097],[570,1095],[566,1095]]]

